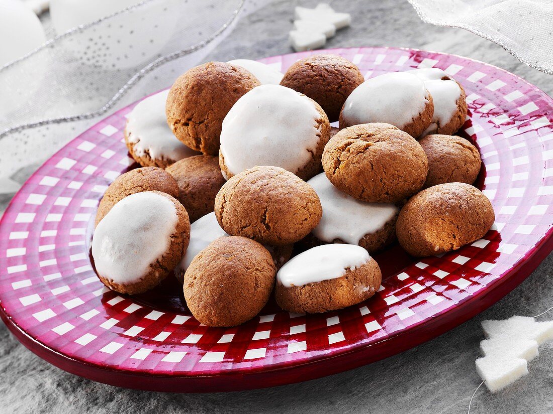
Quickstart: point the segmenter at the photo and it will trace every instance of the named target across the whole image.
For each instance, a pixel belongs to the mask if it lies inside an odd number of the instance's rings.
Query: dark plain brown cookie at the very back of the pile
[[[301,92],[337,121],[346,98],[364,82],[359,68],[338,55],[312,55],[293,63],[280,84]]]

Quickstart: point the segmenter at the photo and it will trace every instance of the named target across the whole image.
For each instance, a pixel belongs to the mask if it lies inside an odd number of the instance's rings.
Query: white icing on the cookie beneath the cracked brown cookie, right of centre
[[[398,213],[394,204],[366,203],[338,190],[321,173],[309,181],[322,205],[322,218],[313,229],[315,237],[331,242],[335,238],[358,245],[363,236],[384,227]]]

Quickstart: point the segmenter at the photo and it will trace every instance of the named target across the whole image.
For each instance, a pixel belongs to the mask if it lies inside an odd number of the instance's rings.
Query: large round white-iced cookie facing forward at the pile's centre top
[[[229,110],[221,131],[219,163],[227,178],[271,165],[309,179],[321,171],[330,124],[314,100],[290,88],[263,85]]]

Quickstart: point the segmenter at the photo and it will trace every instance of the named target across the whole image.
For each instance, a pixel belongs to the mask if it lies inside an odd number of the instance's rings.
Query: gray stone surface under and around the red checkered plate
[[[252,59],[291,51],[286,32],[293,6],[281,1],[249,15],[210,56]],[[503,67],[553,91],[551,78],[524,66],[499,46],[460,29],[422,23],[406,1],[332,1],[353,14],[352,27],[327,46],[403,46],[472,57]],[[21,177],[18,177],[21,178]],[[553,256],[512,293],[481,315],[433,341],[346,373],[306,383],[228,394],[163,394],[93,383],[67,374],[27,351],[0,326],[1,413],[463,413],[479,378],[474,371],[482,319],[535,315],[553,305]],[[553,312],[544,316],[553,319]],[[530,375],[499,392],[480,390],[473,413],[553,412],[553,347],[529,364]]]

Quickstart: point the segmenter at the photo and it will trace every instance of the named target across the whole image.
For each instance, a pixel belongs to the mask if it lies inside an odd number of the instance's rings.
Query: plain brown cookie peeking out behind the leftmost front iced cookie
[[[121,174],[106,189],[96,211],[94,226],[98,225],[117,201],[127,197],[127,195],[152,190],[179,197],[179,186],[175,179],[161,168],[142,167]]]

